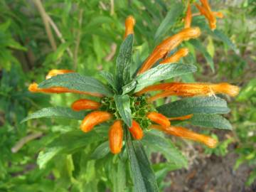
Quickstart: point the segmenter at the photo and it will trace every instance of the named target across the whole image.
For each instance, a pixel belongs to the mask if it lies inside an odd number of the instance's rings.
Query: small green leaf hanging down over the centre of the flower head
[[[132,111],[130,109],[130,100],[128,95],[114,95],[114,102],[122,120],[128,127],[132,127]]]

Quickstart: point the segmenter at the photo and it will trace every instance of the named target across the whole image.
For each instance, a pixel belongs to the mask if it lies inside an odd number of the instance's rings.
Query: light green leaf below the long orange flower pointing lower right
[[[160,137],[153,132],[146,132],[142,139],[142,143],[149,146],[149,148],[154,149],[154,151],[164,154],[169,163],[175,164],[180,168],[183,166],[188,166],[187,159],[181,154],[181,151],[174,146],[170,139]]]

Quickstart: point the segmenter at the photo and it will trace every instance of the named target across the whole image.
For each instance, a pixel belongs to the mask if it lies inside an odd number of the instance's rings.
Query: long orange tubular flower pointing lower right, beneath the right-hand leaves
[[[214,148],[218,144],[218,141],[211,137],[208,137],[204,134],[197,134],[183,127],[161,127],[159,125],[152,125],[151,128],[159,129],[163,132],[166,132],[166,134],[171,134],[176,137],[190,139],[195,142],[201,142],[210,148]]]

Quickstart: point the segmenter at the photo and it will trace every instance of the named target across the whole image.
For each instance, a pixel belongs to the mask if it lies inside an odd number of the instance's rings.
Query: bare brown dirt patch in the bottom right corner
[[[245,186],[250,171],[246,165],[233,171],[237,154],[225,157],[212,155],[206,159],[196,159],[190,169],[171,172],[171,186],[165,192],[255,192],[256,182]]]

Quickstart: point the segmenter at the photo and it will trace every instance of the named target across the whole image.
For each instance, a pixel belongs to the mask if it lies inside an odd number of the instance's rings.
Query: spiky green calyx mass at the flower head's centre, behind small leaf
[[[154,106],[146,102],[146,97],[144,95],[136,97],[130,96],[130,110],[132,111],[132,119],[140,124],[142,129],[148,129],[151,125],[150,120],[146,117],[148,112],[156,111]],[[120,116],[114,98],[103,97],[101,100],[100,110],[110,112],[114,114],[114,119],[122,119]]]

